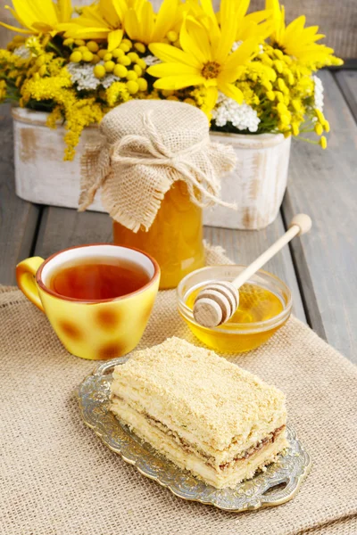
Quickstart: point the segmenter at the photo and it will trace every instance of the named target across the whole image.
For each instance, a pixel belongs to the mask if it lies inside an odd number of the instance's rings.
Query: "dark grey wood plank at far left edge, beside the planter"
[[[15,194],[10,107],[0,109],[0,284],[15,284],[15,266],[29,256],[40,217],[38,206]]]

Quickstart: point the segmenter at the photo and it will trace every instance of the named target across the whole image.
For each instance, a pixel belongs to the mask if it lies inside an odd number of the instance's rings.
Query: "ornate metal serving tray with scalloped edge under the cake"
[[[146,477],[167,487],[179,498],[194,500],[226,511],[241,512],[259,507],[278,506],[297,494],[311,468],[309,454],[295,432],[287,427],[289,448],[266,472],[239,483],[236,489],[215,489],[180,470],[129,428],[120,424],[109,410],[110,385],[114,366],[128,357],[114,358],[98,366],[79,385],[77,395],[81,416],[108,448]]]

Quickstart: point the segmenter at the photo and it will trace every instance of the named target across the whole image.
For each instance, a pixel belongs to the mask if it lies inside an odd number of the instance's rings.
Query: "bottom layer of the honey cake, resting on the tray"
[[[141,439],[149,442],[154,449],[162,452],[180,468],[187,469],[198,478],[220,489],[236,487],[237,483],[253,477],[263,466],[274,462],[278,453],[286,448],[285,426],[270,434],[269,437],[245,452],[244,457],[231,459],[229,463],[213,466],[211,459],[203,457],[202,452],[192,449],[190,444],[182,443],[176,436],[166,432],[157,422],[138,413],[122,399],[113,397],[112,412],[124,424],[128,424]],[[159,423],[160,424],[160,423]]]

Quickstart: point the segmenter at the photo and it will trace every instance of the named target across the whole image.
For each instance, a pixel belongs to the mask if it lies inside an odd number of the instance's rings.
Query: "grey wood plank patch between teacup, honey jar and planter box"
[[[73,245],[101,242],[112,242],[112,222],[107,214],[51,206],[44,210],[35,254],[46,258]]]

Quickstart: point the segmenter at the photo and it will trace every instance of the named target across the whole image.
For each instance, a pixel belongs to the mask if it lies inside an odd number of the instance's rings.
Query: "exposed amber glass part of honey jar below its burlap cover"
[[[113,221],[114,243],[148,252],[162,270],[160,288],[175,288],[204,265],[202,209],[191,201],[187,185],[175,182],[165,194],[149,230],[132,232]]]

